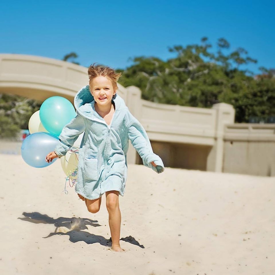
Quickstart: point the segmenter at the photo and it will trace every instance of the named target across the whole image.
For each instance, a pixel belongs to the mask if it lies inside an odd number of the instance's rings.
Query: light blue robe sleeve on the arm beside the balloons
[[[76,117],[64,126],[59,135],[59,142],[54,150],[58,157],[66,155],[67,151],[74,145],[78,136],[85,131],[85,128],[84,119],[80,115],[76,115]]]

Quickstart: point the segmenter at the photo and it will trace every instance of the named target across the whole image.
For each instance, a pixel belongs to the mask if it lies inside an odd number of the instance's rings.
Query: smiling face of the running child
[[[112,82],[106,76],[97,76],[92,80],[91,94],[100,106],[112,104],[113,95],[116,93]]]

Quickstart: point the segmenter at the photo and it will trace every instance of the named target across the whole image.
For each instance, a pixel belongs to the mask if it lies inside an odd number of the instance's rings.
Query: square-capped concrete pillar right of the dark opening
[[[207,171],[223,172],[223,136],[224,125],[235,120],[235,109],[227,103],[214,104],[216,110],[215,144],[207,158]]]

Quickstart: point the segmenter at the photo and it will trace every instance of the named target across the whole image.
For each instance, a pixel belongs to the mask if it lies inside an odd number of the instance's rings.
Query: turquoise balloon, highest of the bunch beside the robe
[[[44,128],[58,137],[63,127],[76,116],[74,106],[64,97],[49,97],[39,111],[39,117]]]

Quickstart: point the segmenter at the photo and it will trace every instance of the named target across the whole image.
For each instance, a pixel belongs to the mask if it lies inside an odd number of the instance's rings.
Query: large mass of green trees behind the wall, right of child
[[[275,115],[274,70],[262,68],[262,77],[240,66],[256,63],[243,48],[225,54],[230,48],[224,38],[217,41],[217,52],[206,37],[201,44],[174,46],[175,58],[135,57],[123,72],[119,83],[137,86],[142,98],[166,104],[212,107],[225,102],[236,109],[236,121],[248,122],[252,116]]]

